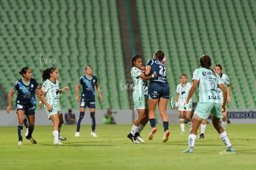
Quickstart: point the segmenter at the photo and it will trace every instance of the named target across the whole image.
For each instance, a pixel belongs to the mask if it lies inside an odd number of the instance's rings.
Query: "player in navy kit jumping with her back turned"
[[[169,122],[166,113],[166,107],[169,100],[169,84],[166,79],[166,67],[162,62],[164,60],[163,51],[157,50],[153,55],[153,59],[148,60],[145,75],[157,74],[157,77],[150,79],[148,87],[148,118],[150,120],[151,131],[148,139],[152,140],[156,129],[155,109],[158,104],[159,113],[163,121],[164,136],[163,142],[169,137]]]

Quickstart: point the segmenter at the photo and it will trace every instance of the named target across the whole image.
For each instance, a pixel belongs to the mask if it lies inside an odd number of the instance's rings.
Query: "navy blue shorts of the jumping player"
[[[151,82],[148,87],[148,99],[169,99],[170,87],[168,83]]]

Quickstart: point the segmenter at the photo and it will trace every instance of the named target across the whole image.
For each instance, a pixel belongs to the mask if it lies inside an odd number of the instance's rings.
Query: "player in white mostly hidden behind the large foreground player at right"
[[[227,91],[228,92],[227,100],[228,100],[228,103],[231,103],[231,97],[230,97],[231,82],[230,82],[230,79],[229,79],[228,75],[224,75],[223,73],[221,73],[222,66],[220,64],[215,65],[214,71],[215,71],[215,73],[217,73],[220,76],[220,78],[222,79],[222,81],[224,83],[224,86],[227,87],[227,89],[228,89],[228,91]],[[223,104],[223,93],[222,93],[220,88],[218,88],[218,92],[220,93],[221,104]],[[226,125],[228,123],[228,117],[227,117],[226,109],[225,109],[225,111],[222,112],[222,115],[223,115],[223,118],[221,119],[221,126],[224,129],[226,129]],[[203,119],[203,121],[201,123],[201,133],[200,133],[200,136],[198,136],[198,139],[203,139],[205,137],[205,129],[207,127],[207,120],[208,119]]]

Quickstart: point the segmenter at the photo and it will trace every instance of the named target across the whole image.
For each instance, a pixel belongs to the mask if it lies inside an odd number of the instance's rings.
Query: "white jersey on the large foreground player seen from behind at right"
[[[193,78],[198,80],[199,102],[220,103],[218,84],[223,84],[217,73],[207,68],[198,68]]]

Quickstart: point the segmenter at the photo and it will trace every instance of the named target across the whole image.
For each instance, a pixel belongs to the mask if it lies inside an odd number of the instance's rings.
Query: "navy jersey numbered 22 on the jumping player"
[[[154,72],[157,74],[155,78],[150,79],[150,83],[153,81],[168,83],[164,63],[160,62],[158,59],[149,59],[147,62],[147,67],[151,67],[150,75],[153,75]]]

